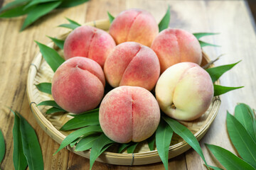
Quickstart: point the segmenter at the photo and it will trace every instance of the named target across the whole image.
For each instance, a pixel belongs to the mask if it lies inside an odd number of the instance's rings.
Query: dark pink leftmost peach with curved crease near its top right
[[[82,113],[100,103],[104,87],[104,73],[97,62],[85,57],[73,57],[56,70],[52,94],[55,102],[65,111]]]

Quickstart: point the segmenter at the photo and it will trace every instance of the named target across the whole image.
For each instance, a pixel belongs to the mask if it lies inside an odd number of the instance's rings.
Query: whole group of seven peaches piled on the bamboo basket
[[[196,37],[172,28],[159,33],[144,10],[119,13],[109,33],[76,28],[65,40],[64,57],[53,77],[55,102],[71,113],[100,104],[100,126],[115,142],[153,135],[160,108],[171,118],[195,120],[213,98],[210,76],[199,66],[202,50]],[[114,89],[104,96],[105,81]]]

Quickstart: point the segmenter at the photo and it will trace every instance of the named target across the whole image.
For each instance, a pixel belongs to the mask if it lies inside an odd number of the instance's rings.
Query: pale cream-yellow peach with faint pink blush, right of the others
[[[177,120],[195,120],[213,99],[213,83],[206,70],[193,62],[174,64],[156,83],[161,111]]]

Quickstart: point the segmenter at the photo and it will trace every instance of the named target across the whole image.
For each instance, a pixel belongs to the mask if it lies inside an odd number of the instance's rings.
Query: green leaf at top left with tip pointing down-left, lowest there
[[[38,6],[33,7],[30,11],[28,11],[28,16],[26,17],[23,23],[23,26],[21,27],[21,30],[24,30],[25,28],[30,26],[38,18],[46,15],[46,13],[49,13],[60,4],[61,4],[61,1],[53,1],[53,2],[48,2],[48,3],[40,4]]]

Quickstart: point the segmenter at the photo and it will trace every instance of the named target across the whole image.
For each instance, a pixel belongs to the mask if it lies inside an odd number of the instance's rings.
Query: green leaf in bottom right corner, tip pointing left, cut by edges
[[[255,170],[250,164],[247,164],[247,162],[236,157],[235,154],[223,149],[222,147],[208,144],[206,144],[206,147],[210,149],[210,152],[213,153],[214,157],[218,159],[220,164],[222,164],[226,169]]]

